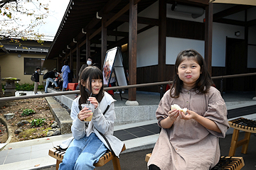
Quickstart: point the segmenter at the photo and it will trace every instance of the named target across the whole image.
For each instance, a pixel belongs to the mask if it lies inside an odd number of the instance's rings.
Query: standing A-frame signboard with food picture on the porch
[[[115,74],[117,86],[127,86],[127,80],[124,74],[124,66],[122,64],[122,53],[119,47],[107,50],[105,62],[103,64],[103,84],[109,86],[112,73]]]

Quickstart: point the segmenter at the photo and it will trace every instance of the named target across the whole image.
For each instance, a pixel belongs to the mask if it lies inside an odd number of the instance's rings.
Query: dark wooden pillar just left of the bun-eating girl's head
[[[158,81],[166,81],[166,0],[159,0]]]

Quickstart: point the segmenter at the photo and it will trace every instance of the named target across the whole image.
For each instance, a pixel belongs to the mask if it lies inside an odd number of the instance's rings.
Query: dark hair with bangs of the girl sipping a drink
[[[95,66],[89,66],[86,67],[85,69],[82,70],[82,74],[80,75],[80,99],[79,99],[79,106],[82,103],[87,103],[87,98],[90,97],[91,91],[92,91],[92,79],[102,79],[103,80],[103,75],[102,72],[100,71],[99,68],[95,67]],[[88,82],[88,84],[87,84]],[[88,89],[85,86],[82,86],[82,83],[85,83],[88,85]],[[102,87],[100,89],[99,94],[97,95],[92,95],[94,96],[97,101],[100,103],[100,101],[102,100],[103,96],[104,96],[104,92],[103,92],[103,84]]]

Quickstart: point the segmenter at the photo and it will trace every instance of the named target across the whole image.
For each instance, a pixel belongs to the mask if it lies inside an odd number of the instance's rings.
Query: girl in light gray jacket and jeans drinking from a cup
[[[68,147],[59,169],[95,169],[107,149],[119,157],[123,142],[114,137],[114,99],[103,91],[102,72],[95,66],[86,67],[80,75],[80,96],[72,104],[70,116],[75,138]],[[95,111],[90,114],[82,103],[90,101]],[[84,120],[92,115],[90,122]]]

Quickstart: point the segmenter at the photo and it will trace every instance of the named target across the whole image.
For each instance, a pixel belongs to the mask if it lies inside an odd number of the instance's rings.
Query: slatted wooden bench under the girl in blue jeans
[[[125,150],[125,145],[122,148],[122,152]],[[57,159],[56,161],[56,170],[59,168],[60,162],[62,162],[64,157],[65,151],[63,149],[60,149],[60,147],[53,147],[52,149],[49,149],[49,156]],[[102,157],[100,157],[99,162],[94,164],[94,166],[103,166],[107,164],[107,162],[110,162],[112,160],[112,164],[114,166],[114,170],[121,170],[121,166],[119,163],[119,159],[112,154],[112,152],[108,151],[106,152]]]

